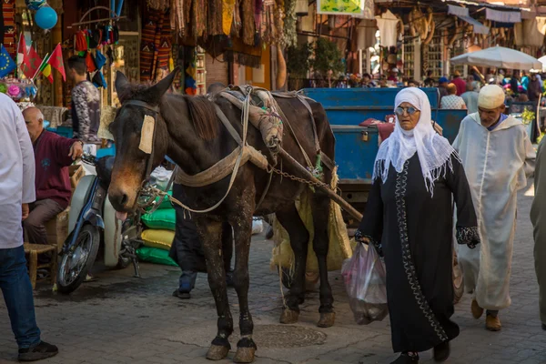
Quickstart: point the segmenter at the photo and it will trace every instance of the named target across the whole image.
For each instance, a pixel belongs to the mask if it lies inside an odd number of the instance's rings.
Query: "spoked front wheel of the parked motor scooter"
[[[70,241],[72,234],[66,239]],[[82,227],[76,243],[68,252],[60,257],[57,272],[57,289],[61,293],[71,293],[78,288],[87,273],[95,263],[100,234],[97,227],[86,225]]]

